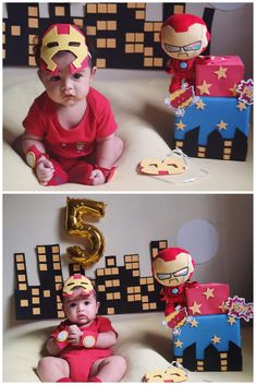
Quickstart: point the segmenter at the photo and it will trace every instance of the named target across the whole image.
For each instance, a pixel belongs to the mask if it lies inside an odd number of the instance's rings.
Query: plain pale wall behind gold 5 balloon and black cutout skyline
[[[75,195],[70,195],[75,196]],[[150,274],[149,242],[167,239],[175,245],[179,229],[191,219],[206,219],[220,237],[216,256],[197,266],[194,279],[229,282],[232,294],[253,297],[253,205],[251,195],[208,194],[86,194],[107,203],[106,216],[94,224],[106,238],[105,255],[139,253],[141,275]],[[37,285],[35,246],[59,243],[63,275],[68,277],[65,248],[76,239],[64,232],[64,194],[3,196],[3,326],[16,324],[13,304],[14,253],[25,253],[29,285]],[[198,240],[199,242],[199,240]],[[77,243],[76,243],[77,244]],[[83,244],[83,243],[81,243]],[[193,255],[196,257],[196,255]],[[94,268],[102,267],[101,258]],[[94,268],[88,272],[94,275]]]

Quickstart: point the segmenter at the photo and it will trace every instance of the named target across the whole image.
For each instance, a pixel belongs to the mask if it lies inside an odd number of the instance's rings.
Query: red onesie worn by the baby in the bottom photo
[[[71,325],[70,321],[61,322],[60,325],[52,332],[51,337],[57,338],[58,334],[66,330]],[[117,332],[113,329],[109,318],[97,316],[95,321],[87,327],[81,327],[82,332],[90,332],[93,334]],[[60,351],[60,358],[66,360],[70,365],[70,377],[73,382],[84,382],[88,380],[89,371],[95,361],[112,354],[111,349],[86,349],[85,347],[76,347],[68,345]]]

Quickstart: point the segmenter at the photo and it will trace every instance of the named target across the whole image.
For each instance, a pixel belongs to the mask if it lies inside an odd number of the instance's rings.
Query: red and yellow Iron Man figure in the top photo
[[[161,27],[161,47],[171,58],[166,71],[172,76],[169,92],[182,88],[186,83],[194,84],[195,62],[202,62],[199,55],[207,48],[210,34],[205,22],[192,14],[174,14]]]

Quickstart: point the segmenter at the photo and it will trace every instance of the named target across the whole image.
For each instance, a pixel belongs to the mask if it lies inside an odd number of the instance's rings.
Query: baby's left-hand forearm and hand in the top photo
[[[33,148],[35,149],[37,155],[34,161],[29,164],[29,166],[36,169],[38,181],[41,184],[47,184],[47,182],[49,182],[54,172],[52,163],[45,156],[46,148],[44,146],[42,140],[40,137],[28,135],[25,133],[22,137],[22,151],[25,156],[29,154]]]

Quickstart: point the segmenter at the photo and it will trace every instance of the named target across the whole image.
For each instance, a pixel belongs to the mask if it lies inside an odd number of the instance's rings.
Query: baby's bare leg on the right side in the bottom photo
[[[110,356],[95,361],[90,368],[88,382],[117,383],[126,371],[126,361],[120,356]]]

